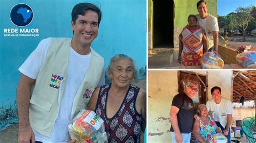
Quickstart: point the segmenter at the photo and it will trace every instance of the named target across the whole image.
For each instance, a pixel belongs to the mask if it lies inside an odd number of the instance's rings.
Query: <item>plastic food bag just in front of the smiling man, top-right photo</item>
[[[202,68],[222,69],[224,66],[224,61],[216,51],[204,53],[199,61]]]

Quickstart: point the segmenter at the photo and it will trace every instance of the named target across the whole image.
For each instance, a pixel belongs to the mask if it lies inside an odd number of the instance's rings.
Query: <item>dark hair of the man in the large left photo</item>
[[[98,26],[99,26],[100,20],[102,19],[102,11],[100,11],[100,9],[96,5],[91,3],[79,3],[74,6],[71,13],[73,23],[76,24],[78,15],[84,16],[87,10],[92,10],[98,13]]]

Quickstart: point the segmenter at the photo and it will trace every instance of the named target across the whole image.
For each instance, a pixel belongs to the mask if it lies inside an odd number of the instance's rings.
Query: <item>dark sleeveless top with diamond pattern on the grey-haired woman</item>
[[[106,102],[110,85],[100,87],[95,108],[96,114],[104,120],[109,142],[139,142],[142,116],[136,111],[135,103],[140,88],[130,84],[121,108],[112,118],[107,118]]]

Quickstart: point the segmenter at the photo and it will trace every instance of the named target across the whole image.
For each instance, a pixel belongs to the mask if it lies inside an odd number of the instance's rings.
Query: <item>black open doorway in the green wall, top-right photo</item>
[[[153,48],[173,48],[173,1],[153,1]]]

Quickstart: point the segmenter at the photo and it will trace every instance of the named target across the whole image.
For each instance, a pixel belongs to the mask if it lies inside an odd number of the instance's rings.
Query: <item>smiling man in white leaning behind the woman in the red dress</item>
[[[208,39],[208,51],[218,51],[219,26],[217,18],[207,13],[207,3],[203,0],[197,3],[197,10],[199,12],[199,15],[196,15],[197,24],[205,30]]]

